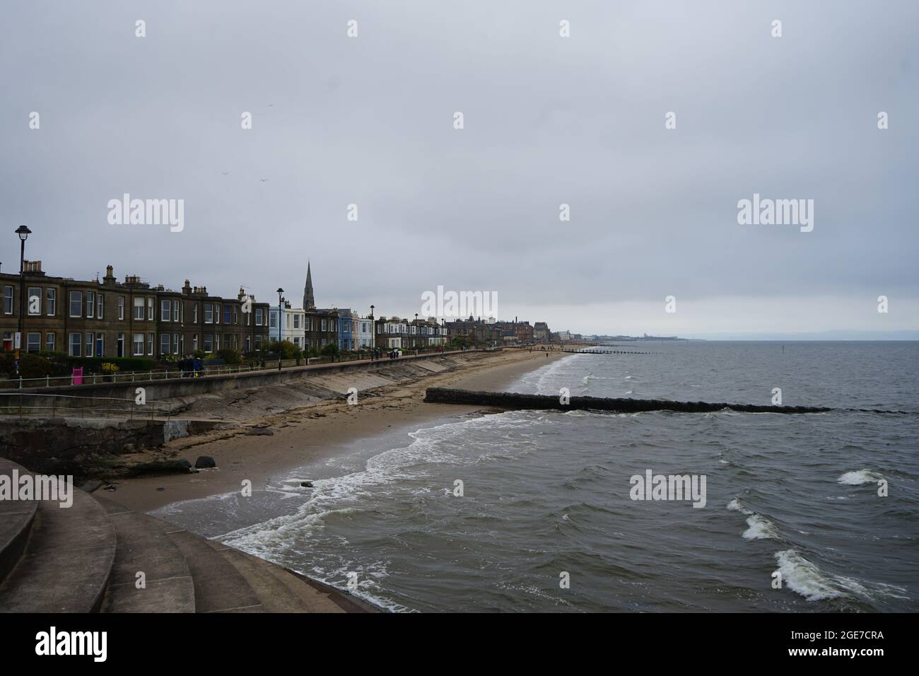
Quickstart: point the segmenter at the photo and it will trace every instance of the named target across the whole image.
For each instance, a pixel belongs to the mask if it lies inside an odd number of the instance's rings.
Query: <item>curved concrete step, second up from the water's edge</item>
[[[163,523],[164,532],[185,556],[195,584],[198,613],[265,613],[246,579],[226,558],[195,533]]]

